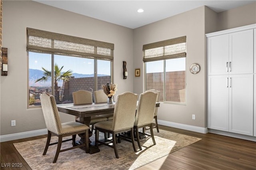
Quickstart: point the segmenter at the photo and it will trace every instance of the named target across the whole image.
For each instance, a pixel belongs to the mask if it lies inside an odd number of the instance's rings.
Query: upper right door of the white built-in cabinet
[[[253,29],[231,33],[229,38],[229,73],[253,73]]]

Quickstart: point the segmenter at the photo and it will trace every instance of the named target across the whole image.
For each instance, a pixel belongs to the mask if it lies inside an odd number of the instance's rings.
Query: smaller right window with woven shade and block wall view
[[[186,37],[143,45],[146,90],[161,91],[160,101],[186,102]]]

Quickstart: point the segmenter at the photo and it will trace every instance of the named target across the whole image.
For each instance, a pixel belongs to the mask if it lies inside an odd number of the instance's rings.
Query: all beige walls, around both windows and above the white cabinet
[[[8,76],[0,76],[0,135],[46,128],[42,109],[26,107],[26,27],[114,43],[114,83],[118,84],[117,94],[124,91],[139,94],[144,91],[143,44],[187,36],[187,103],[161,103],[158,119],[204,128],[207,127],[205,33],[255,24],[255,11],[255,3],[254,6],[240,7],[219,15],[202,6],[132,30],[34,1],[4,0],[2,45],[8,48],[9,71]],[[237,18],[238,15],[241,17]],[[222,24],[225,21],[228,21],[228,25]],[[127,62],[126,68],[130,75],[127,79],[123,79],[122,61]],[[192,63],[201,66],[199,73],[190,73]],[[140,77],[133,76],[135,68],[141,69]],[[196,120],[192,120],[192,114],[196,115]],[[63,121],[74,120],[66,114],[61,114],[61,118]],[[16,120],[16,127],[10,126],[11,120]]]

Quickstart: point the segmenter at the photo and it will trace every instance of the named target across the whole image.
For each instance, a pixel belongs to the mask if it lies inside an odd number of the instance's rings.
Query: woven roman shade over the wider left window
[[[113,60],[114,44],[27,28],[27,51]]]

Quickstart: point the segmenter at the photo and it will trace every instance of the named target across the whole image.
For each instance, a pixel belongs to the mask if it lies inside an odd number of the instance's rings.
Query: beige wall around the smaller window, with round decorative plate
[[[134,29],[134,67],[141,69],[141,77],[134,79],[134,92],[142,93],[144,84],[144,63],[142,45],[186,36],[186,105],[161,103],[158,119],[197,127],[206,127],[206,65],[204,9],[202,6],[176,16]],[[201,70],[192,74],[189,67],[198,63]],[[192,121],[192,114],[196,120]]]

